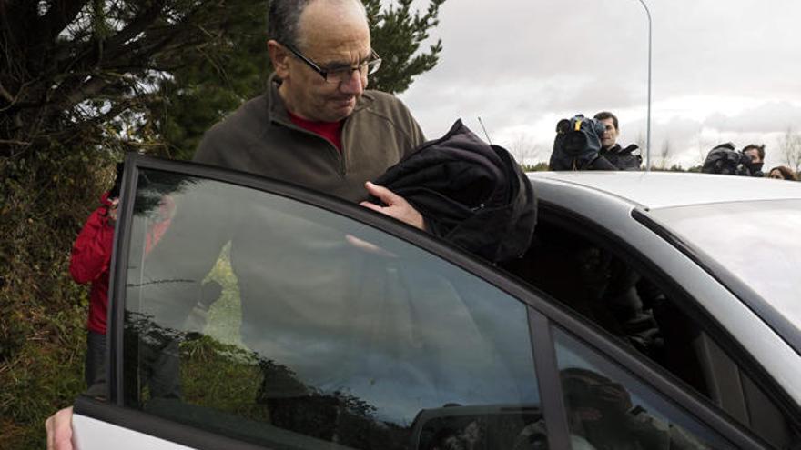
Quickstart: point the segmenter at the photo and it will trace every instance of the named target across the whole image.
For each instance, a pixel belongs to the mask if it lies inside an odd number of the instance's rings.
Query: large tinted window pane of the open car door
[[[146,252],[167,197],[174,216]],[[235,185],[144,171],[134,209],[126,405],[289,448],[544,445],[516,299],[367,225]]]

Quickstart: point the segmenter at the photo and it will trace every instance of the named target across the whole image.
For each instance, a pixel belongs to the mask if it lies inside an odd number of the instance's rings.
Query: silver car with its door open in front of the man
[[[801,184],[531,174],[532,246],[493,266],[297,186],[126,170],[79,449],[801,445]]]

